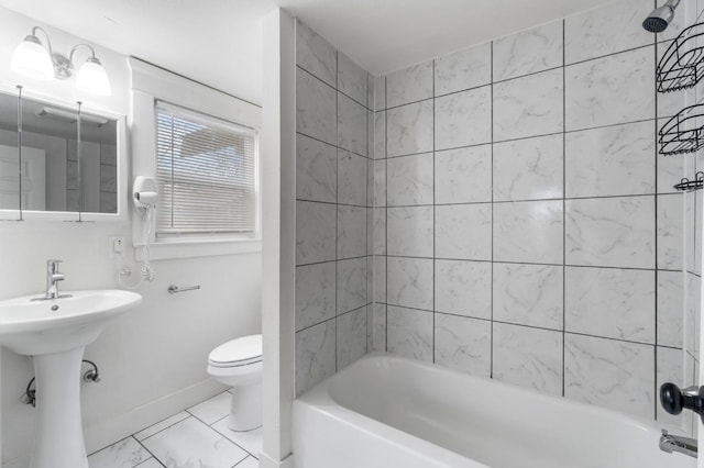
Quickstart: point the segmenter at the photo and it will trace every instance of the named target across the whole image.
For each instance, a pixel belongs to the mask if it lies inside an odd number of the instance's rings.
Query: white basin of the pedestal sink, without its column
[[[110,319],[140,302],[122,290],[62,291],[70,298],[33,301],[42,294],[0,301],[0,343],[18,354],[58,353],[94,342]]]

